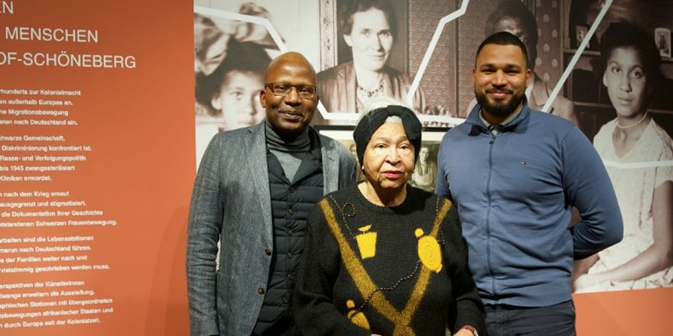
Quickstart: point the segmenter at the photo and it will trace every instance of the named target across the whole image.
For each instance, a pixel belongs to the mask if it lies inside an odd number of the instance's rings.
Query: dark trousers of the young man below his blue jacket
[[[575,336],[573,300],[549,307],[487,304],[486,329],[490,336]]]

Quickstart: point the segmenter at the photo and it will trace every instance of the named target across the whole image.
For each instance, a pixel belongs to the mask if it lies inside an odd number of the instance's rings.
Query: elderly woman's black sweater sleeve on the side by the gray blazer
[[[304,335],[371,335],[352,324],[333,303],[332,288],[341,268],[339,245],[320,206],[306,221],[304,252],[293,295],[293,313]]]

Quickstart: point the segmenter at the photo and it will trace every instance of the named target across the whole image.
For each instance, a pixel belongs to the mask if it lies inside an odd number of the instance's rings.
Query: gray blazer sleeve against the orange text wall
[[[216,255],[222,228],[220,193],[222,134],[209,143],[192,191],[187,227],[187,296],[191,335],[219,335],[216,307]]]

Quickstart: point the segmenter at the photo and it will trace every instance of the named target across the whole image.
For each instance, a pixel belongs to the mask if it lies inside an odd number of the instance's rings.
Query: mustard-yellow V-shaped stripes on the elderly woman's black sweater
[[[422,262],[422,267],[418,275],[418,279],[416,280],[416,283],[413,286],[413,290],[411,291],[409,300],[407,301],[407,304],[404,305],[404,309],[402,309],[402,311],[398,311],[387,300],[387,298],[385,298],[385,295],[383,294],[382,291],[376,291],[376,288],[378,286],[374,284],[372,277],[369,276],[367,270],[362,265],[361,261],[358,259],[355,252],[352,250],[352,248],[350,248],[350,245],[348,244],[345,236],[343,235],[343,232],[341,232],[341,228],[339,228],[339,224],[336,221],[336,217],[334,217],[334,211],[332,211],[332,207],[330,206],[328,200],[323,199],[320,201],[319,204],[323,211],[323,215],[325,216],[327,224],[330,227],[330,230],[332,231],[332,235],[334,235],[334,238],[339,243],[339,250],[341,251],[341,257],[343,259],[343,263],[346,267],[346,270],[348,271],[348,274],[350,274],[350,277],[353,279],[356,287],[358,288],[358,291],[360,291],[361,296],[363,298],[366,298],[367,296],[369,296],[370,293],[374,293],[372,294],[371,298],[372,307],[374,307],[374,309],[376,309],[378,313],[383,315],[383,317],[385,317],[389,322],[391,322],[395,326],[395,328],[393,329],[392,336],[402,336],[402,335],[414,336],[415,332],[411,328],[411,319],[413,317],[413,314],[416,312],[416,309],[418,309],[418,304],[420,304],[425,294],[425,291],[428,287],[431,272],[433,271],[439,272],[437,270],[437,266],[431,269],[427,267],[425,263]],[[441,208],[439,209],[437,215],[435,216],[435,222],[433,223],[432,231],[426,237],[432,237],[433,239],[436,239],[435,237],[437,237],[437,233],[440,230],[440,224],[442,224],[442,221],[444,221],[444,217],[446,216],[446,213],[448,213],[450,208],[451,208],[451,202],[449,202],[448,200],[444,200]],[[421,252],[419,252],[419,254],[420,253]],[[434,265],[433,262],[431,262],[430,265],[431,266]],[[361,315],[361,317],[365,318],[366,320],[364,314]],[[367,322],[367,324],[369,323]]]

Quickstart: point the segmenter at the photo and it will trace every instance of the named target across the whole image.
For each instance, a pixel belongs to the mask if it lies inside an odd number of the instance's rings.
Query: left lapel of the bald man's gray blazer
[[[271,218],[271,191],[269,191],[269,169],[266,163],[266,136],[264,121],[248,129],[249,134],[243,139],[243,148],[240,148],[247,157],[248,169],[252,173],[254,189],[258,194],[260,209],[264,219],[264,239],[266,243],[273,243],[273,219]]]

